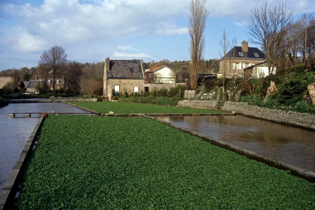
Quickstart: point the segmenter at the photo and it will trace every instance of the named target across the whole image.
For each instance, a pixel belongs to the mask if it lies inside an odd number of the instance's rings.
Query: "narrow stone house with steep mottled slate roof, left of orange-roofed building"
[[[144,91],[144,72],[141,60],[110,60],[104,67],[103,95],[111,100],[112,95]]]

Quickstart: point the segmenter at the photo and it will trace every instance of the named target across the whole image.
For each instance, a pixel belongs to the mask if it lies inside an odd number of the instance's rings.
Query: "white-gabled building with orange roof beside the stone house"
[[[144,83],[174,83],[175,78],[172,77],[172,71],[173,70],[166,65],[146,69],[144,72]]]

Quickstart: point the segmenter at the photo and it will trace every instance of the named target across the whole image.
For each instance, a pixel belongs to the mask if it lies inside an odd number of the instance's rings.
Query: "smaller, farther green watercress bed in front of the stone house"
[[[191,109],[173,106],[161,106],[151,104],[136,104],[128,102],[71,102],[78,106],[82,106],[101,113],[113,111],[115,114],[130,113],[225,113],[223,111],[213,111],[204,109]]]

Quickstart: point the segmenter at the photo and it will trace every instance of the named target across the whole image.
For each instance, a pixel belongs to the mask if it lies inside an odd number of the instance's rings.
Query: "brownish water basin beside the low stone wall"
[[[315,171],[315,131],[243,115],[157,118],[292,166]]]

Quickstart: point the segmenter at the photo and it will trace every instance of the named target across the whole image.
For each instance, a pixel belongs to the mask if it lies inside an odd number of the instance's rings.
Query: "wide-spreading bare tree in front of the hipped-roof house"
[[[247,26],[249,41],[265,51],[269,74],[273,73],[281,43],[292,27],[292,14],[284,3],[272,5],[264,1],[251,9]]]

